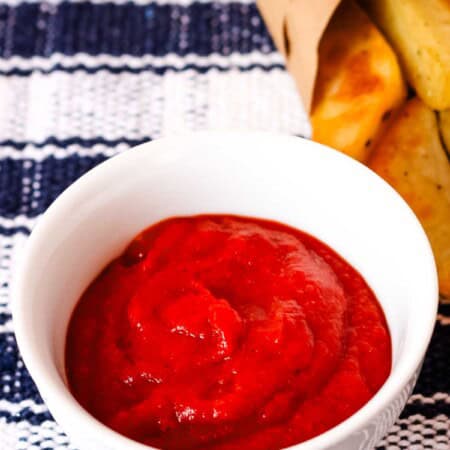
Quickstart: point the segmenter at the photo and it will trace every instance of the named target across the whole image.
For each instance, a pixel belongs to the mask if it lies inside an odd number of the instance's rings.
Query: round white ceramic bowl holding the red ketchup
[[[392,373],[356,414],[291,448],[372,448],[405,405],[433,330],[438,291],[428,240],[403,200],[363,165],[266,133],[207,132],[141,145],[84,175],[41,218],[16,273],[13,315],[25,364],[57,422],[82,449],[149,449],[99,423],[72,397],[66,328],[89,282],[139,231],[199,213],[284,222],[363,274],[387,317]]]

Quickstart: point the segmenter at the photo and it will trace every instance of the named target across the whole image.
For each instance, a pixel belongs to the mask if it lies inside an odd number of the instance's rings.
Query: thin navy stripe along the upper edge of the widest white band
[[[196,64],[186,64],[183,67],[174,67],[174,66],[160,66],[155,67],[150,64],[144,65],[142,67],[129,67],[129,66],[117,66],[112,67],[108,66],[106,64],[101,64],[99,66],[95,67],[87,67],[83,64],[76,64],[74,66],[63,66],[61,64],[55,64],[49,69],[42,69],[42,68],[31,68],[31,69],[18,69],[13,68],[11,70],[0,70],[0,76],[19,76],[19,77],[27,77],[30,76],[33,73],[42,73],[44,75],[48,75],[53,72],[66,72],[66,73],[75,73],[78,71],[94,74],[100,71],[107,71],[109,73],[113,74],[121,74],[121,73],[132,73],[132,74],[139,74],[142,72],[151,72],[155,75],[164,75],[167,72],[185,72],[188,70],[195,71],[196,73],[204,74],[208,73],[212,70],[218,71],[218,72],[230,72],[230,71],[239,71],[239,72],[249,72],[255,69],[262,70],[264,72],[270,72],[272,70],[284,70],[285,66],[283,64],[249,64],[247,66],[228,66],[223,67],[219,66],[218,64],[211,64],[207,66],[199,66]]]

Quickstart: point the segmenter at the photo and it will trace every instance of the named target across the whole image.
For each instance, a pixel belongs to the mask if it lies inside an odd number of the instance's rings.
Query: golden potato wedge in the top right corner
[[[417,95],[450,108],[450,1],[362,0],[397,52]]]

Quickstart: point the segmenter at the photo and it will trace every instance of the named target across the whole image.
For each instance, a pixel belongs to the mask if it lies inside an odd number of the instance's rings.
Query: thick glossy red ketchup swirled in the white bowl
[[[75,308],[80,404],[162,449],[280,449],[361,408],[391,368],[383,312],[317,239],[266,220],[172,218],[137,236]]]

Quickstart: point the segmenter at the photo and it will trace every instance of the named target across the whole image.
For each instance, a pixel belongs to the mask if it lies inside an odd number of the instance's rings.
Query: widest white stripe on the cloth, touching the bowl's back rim
[[[310,134],[283,69],[33,73],[0,78],[0,98],[0,141],[143,139],[211,128]]]

